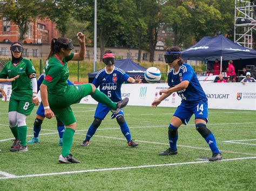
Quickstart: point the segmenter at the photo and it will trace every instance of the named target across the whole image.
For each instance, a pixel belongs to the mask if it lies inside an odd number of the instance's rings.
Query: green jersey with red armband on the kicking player
[[[74,56],[71,53],[66,56],[63,61],[59,60],[58,56],[53,55],[49,60],[46,60],[44,65],[45,79],[43,84],[48,87],[48,94],[63,95],[68,88],[69,68],[67,62]]]

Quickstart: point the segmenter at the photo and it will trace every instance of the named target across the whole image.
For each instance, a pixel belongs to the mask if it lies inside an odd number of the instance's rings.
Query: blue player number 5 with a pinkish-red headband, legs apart
[[[103,55],[103,62],[105,63],[106,67],[99,71],[92,83],[96,88],[99,87],[99,90],[107,95],[113,102],[118,102],[122,100],[121,86],[124,82],[142,83],[142,80],[140,79],[140,76],[133,79],[122,69],[114,67],[115,60],[114,54],[111,51],[106,51]],[[85,140],[80,146],[89,146],[91,137],[95,134],[100,123],[102,123],[102,120],[106,117],[109,111],[110,108],[108,108],[106,105],[98,103],[95,111],[95,119],[87,132]],[[133,142],[131,139],[129,127],[124,119],[123,109],[111,112],[111,118],[116,117],[117,123],[119,124],[120,129],[127,140],[128,146],[137,146],[138,143]]]

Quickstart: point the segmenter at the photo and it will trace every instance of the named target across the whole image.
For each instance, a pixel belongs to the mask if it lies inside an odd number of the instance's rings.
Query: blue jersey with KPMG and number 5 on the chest
[[[111,73],[107,73],[106,69],[103,68],[96,75],[92,83],[96,88],[99,87],[99,90],[107,95],[113,102],[118,102],[122,100],[121,86],[124,82],[127,82],[129,77],[130,76],[120,68],[114,67]]]

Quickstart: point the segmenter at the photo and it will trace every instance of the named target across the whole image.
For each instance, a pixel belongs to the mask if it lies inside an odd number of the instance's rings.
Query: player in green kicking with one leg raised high
[[[59,162],[61,163],[80,163],[70,154],[73,135],[76,130],[76,119],[70,105],[79,103],[87,95],[91,95],[96,101],[104,103],[112,110],[125,107],[129,101],[129,98],[124,98],[124,100],[117,103],[112,102],[93,84],[68,85],[66,81],[69,77],[67,62],[83,60],[85,55],[84,34],[78,33],[78,41],[80,51],[79,54],[74,54],[71,53],[73,49],[71,39],[63,37],[52,39],[51,52],[44,66],[45,79],[40,87],[45,117],[50,119],[56,115],[66,126],[63,135],[62,154],[59,156]]]

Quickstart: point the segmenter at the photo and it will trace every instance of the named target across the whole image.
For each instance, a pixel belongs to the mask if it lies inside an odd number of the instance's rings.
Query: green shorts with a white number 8
[[[35,105],[32,103],[32,98],[30,101],[20,101],[15,100],[14,98],[10,98],[9,102],[9,112],[17,111],[23,115],[30,115]]]

